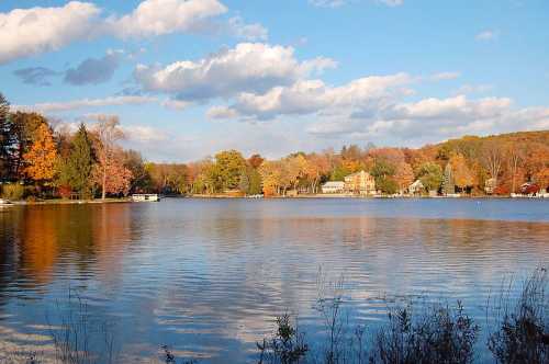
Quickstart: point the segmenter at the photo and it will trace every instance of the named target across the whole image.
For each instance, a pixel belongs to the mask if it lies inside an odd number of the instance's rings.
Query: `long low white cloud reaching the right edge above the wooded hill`
[[[416,145],[463,134],[542,129],[549,125],[548,107],[514,109],[507,98],[478,100],[458,95],[423,99],[381,107],[366,118],[321,120],[307,132],[323,138],[383,138]]]

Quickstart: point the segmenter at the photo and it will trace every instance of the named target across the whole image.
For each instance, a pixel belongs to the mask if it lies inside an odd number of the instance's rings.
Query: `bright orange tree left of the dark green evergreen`
[[[35,130],[34,140],[29,151],[23,155],[24,174],[40,182],[54,179],[57,166],[57,149],[53,133],[45,123]]]

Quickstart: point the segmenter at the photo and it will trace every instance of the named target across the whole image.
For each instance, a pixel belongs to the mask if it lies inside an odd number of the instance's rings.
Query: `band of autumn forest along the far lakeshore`
[[[55,127],[54,127],[55,126]],[[0,183],[4,198],[96,198],[132,193],[172,195],[316,194],[327,181],[365,170],[382,194],[509,195],[528,183],[549,187],[549,130],[488,137],[463,136],[422,148],[349,145],[340,150],[298,151],[277,160],[223,150],[189,163],[146,161],[121,147],[115,116],[74,130],[38,113],[10,111],[0,94]],[[523,191],[524,192],[524,191]]]

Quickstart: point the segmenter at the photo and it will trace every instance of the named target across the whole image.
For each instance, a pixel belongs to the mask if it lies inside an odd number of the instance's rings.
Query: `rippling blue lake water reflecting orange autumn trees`
[[[250,362],[277,315],[320,334],[320,275],[343,277],[351,322],[376,326],[388,302],[411,298],[460,299],[482,325],[490,294],[548,262],[549,201],[15,206],[0,211],[0,353],[47,355],[70,292],[109,323],[123,362],[148,363],[164,344],[205,363]]]

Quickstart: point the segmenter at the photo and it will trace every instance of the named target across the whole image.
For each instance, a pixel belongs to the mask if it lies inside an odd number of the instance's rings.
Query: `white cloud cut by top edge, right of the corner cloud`
[[[193,31],[226,11],[217,0],[145,0],[132,13],[107,20],[107,26],[123,38],[158,36]]]

